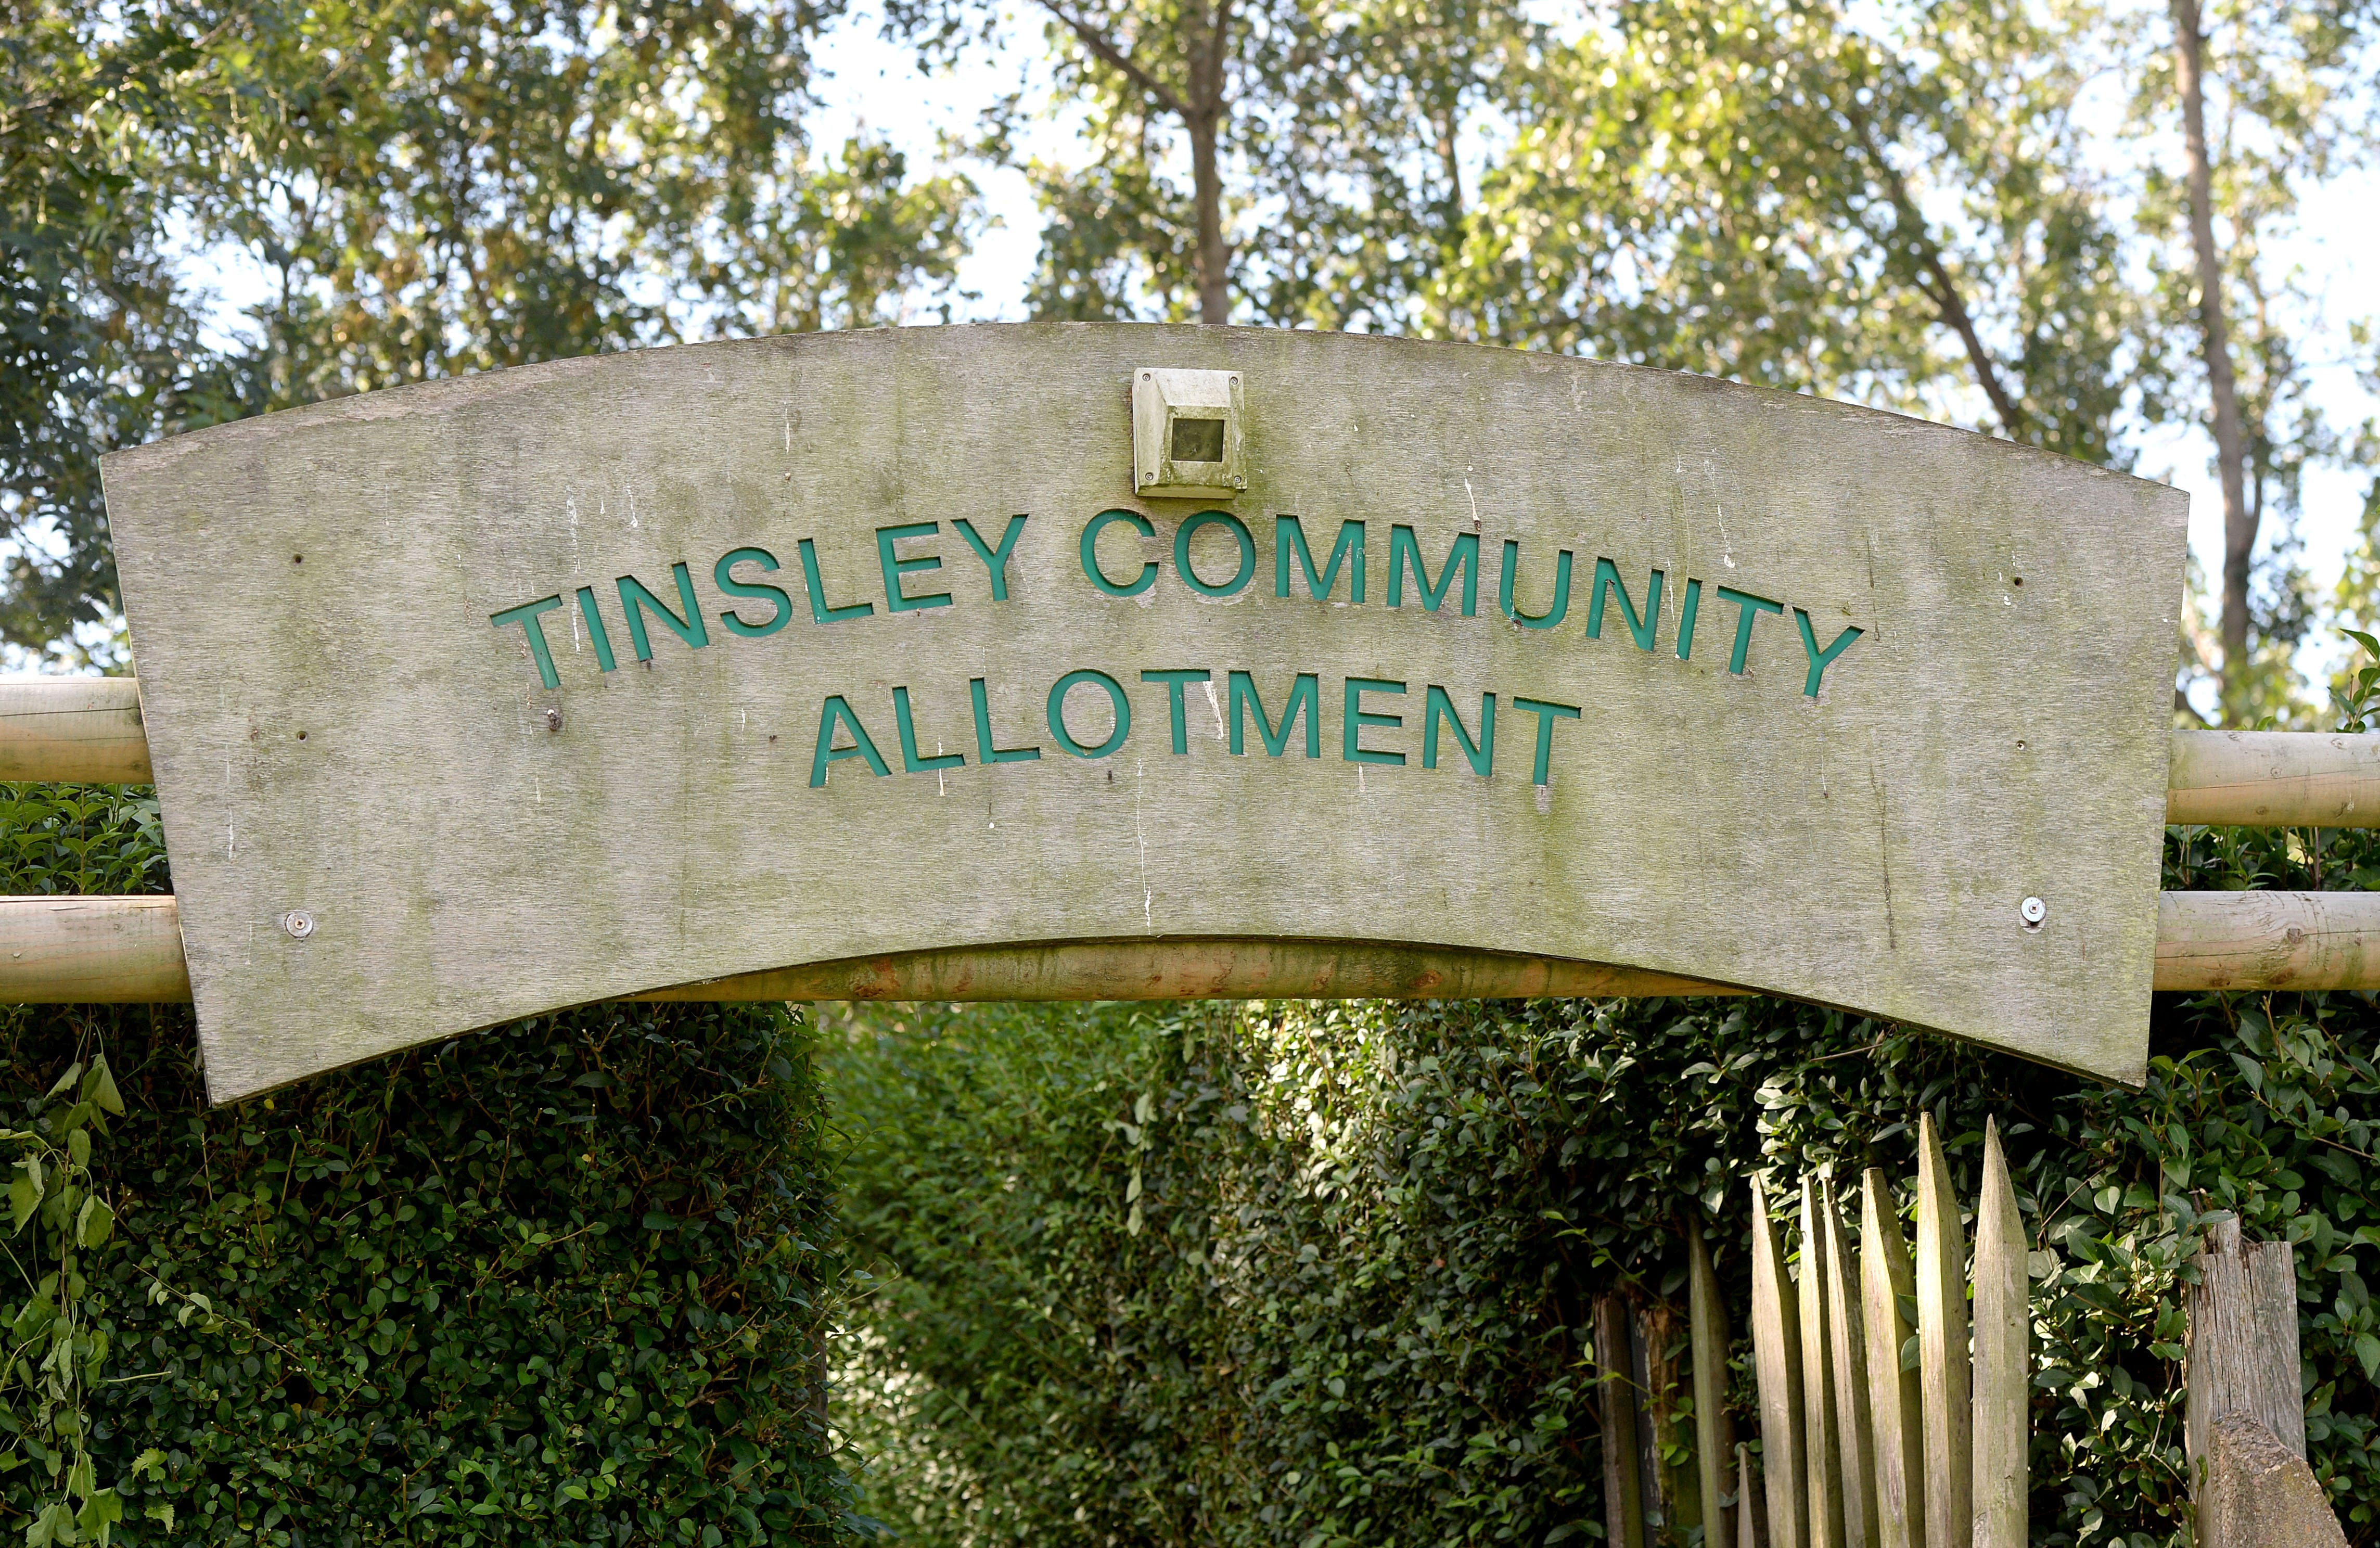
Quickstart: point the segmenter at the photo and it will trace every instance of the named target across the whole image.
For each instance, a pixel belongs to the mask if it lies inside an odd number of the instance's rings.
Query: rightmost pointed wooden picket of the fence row
[[[1999,1148],[1983,1122],[1983,1198],[1975,1205],[1975,1548],[2025,1548],[2025,1443],[2033,1400],[2033,1303],[2025,1219]]]

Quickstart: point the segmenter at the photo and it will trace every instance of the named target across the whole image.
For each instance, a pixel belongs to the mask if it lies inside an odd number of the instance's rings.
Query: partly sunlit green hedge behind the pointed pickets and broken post
[[[2375,855],[2178,829],[2168,886],[2361,884]],[[2370,995],[2159,995],[2137,1091],[1778,1000],[912,1005],[826,1034],[883,1281],[843,1412],[912,1543],[1602,1536],[1590,1298],[1683,1303],[1699,1215],[1742,1329],[1745,1179],[1909,1179],[1918,1112],[1964,1198],[1985,1115],[2009,1136],[2035,1541],[2182,1541],[2180,1291],[2225,1210],[2297,1243],[2316,1474],[2380,1541]]]

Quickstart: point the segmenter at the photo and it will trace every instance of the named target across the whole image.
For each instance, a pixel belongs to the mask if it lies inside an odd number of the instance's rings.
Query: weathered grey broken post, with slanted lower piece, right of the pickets
[[[2340,1517],[2306,1467],[2294,1250],[2244,1241],[2232,1217],[2206,1234],[2197,1267],[2182,1443],[2199,1548],[2344,1548]]]

